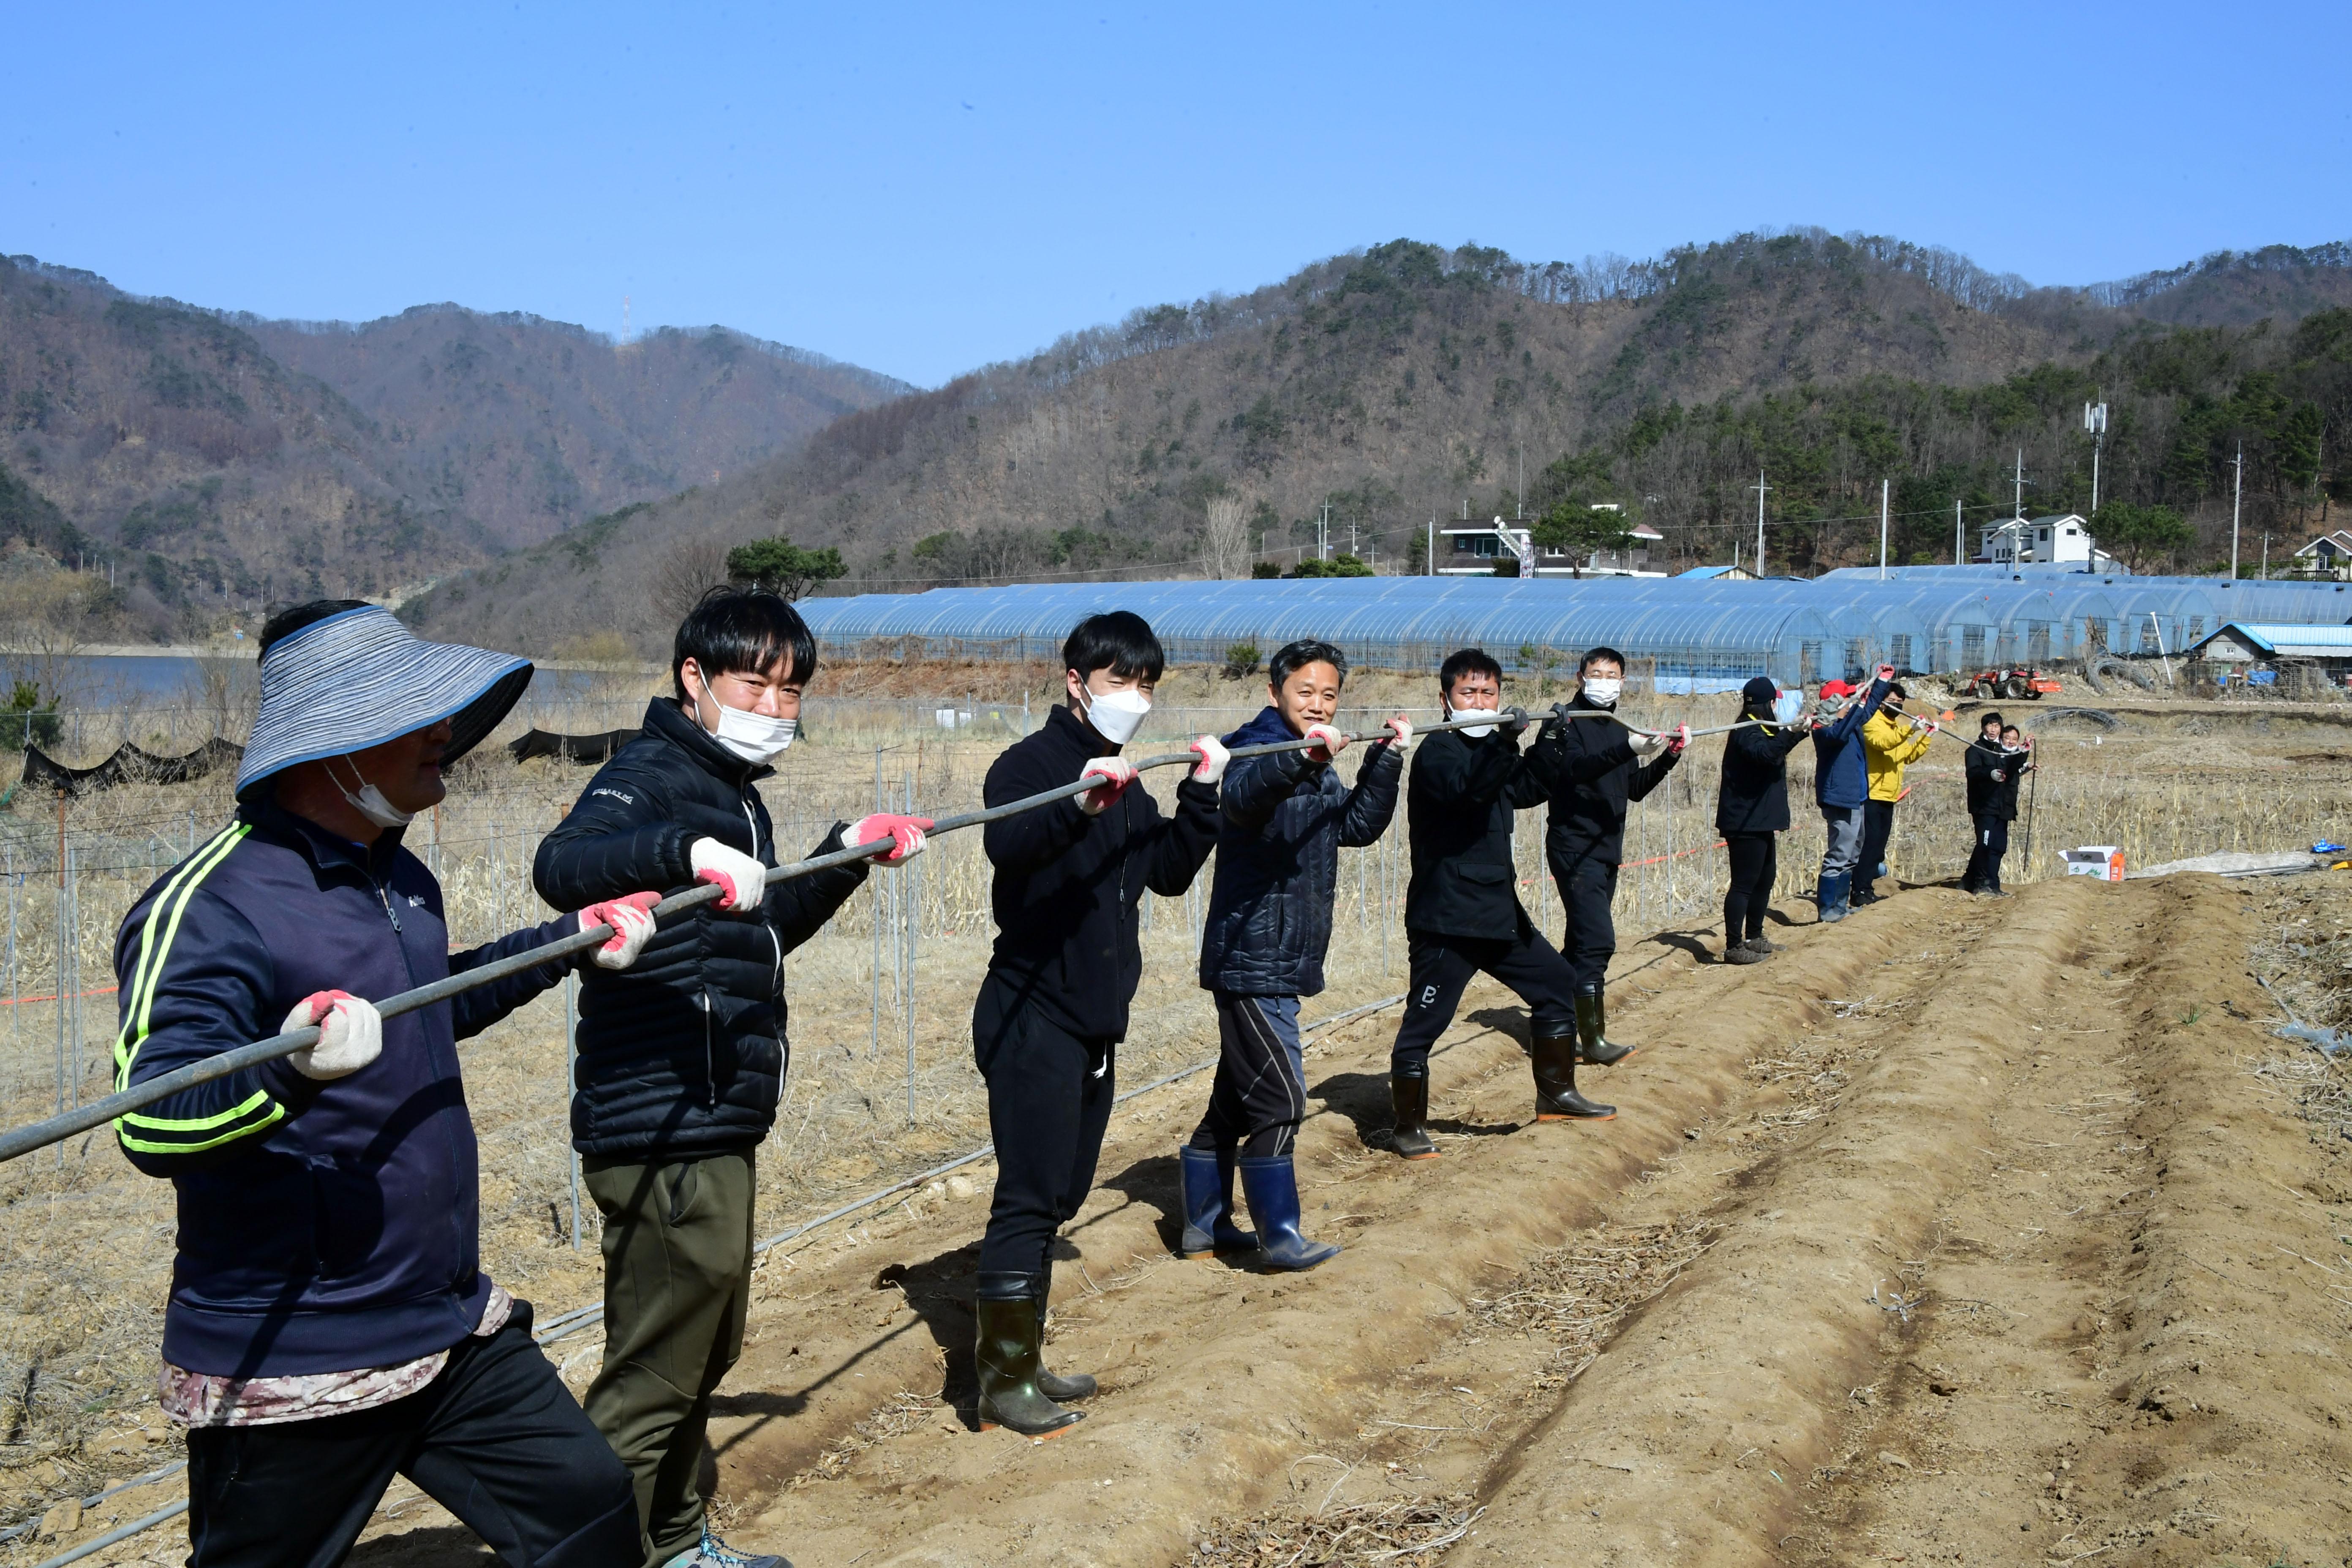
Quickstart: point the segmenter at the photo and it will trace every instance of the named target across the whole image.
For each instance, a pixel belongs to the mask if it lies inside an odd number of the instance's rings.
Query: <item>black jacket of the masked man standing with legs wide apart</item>
[[[1439,729],[1423,741],[1404,785],[1404,827],[1414,839],[1404,929],[1498,940],[1531,931],[1510,830],[1517,811],[1541,806],[1548,795],[1543,773],[1501,729],[1477,738]]]

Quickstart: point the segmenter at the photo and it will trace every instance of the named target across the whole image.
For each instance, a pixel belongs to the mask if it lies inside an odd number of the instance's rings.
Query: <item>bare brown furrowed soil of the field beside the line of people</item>
[[[1776,936],[1759,969],[1621,957],[1644,1051],[1592,1074],[1604,1126],[1529,1124],[1522,1016],[1472,990],[1432,1164],[1367,1147],[1395,1016],[1334,1030],[1301,1171],[1348,1251],[1308,1276],[1169,1260],[1202,1088],[1136,1100],[1056,1274],[1054,1361],[1103,1394],[1054,1443],[969,1432],[985,1166],[774,1258],[724,1526],[802,1568],[1338,1530],[1458,1563],[2343,1559],[2352,1180],[2249,1072],[2279,1046],[2246,896],[1919,889]],[[461,1540],[426,1514],[362,1559]]]

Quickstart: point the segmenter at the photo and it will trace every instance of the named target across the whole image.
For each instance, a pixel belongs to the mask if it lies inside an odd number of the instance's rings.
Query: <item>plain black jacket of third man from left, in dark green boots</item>
[[[1002,806],[1077,783],[1098,748],[1094,729],[1056,708],[1044,729],[990,764],[981,799]],[[1192,886],[1216,849],[1216,788],[1188,773],[1176,785],[1176,816],[1160,816],[1134,783],[1101,816],[1073,797],[997,818],[981,835],[997,872],[988,891],[997,917],[990,978],[1080,1039],[1127,1039],[1127,1004],[1143,980],[1143,891],[1174,898]]]

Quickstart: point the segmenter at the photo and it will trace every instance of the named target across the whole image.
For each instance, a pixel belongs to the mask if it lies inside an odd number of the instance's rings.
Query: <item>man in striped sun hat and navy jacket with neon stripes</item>
[[[374,604],[273,616],[238,816],[122,919],[118,1091],[320,1027],[115,1121],[125,1157],[179,1187],[160,1394],[188,1427],[193,1568],[332,1568],[395,1474],[515,1568],[642,1556],[628,1472],[480,1258],[456,1041],[569,961],[395,1018],[369,1001],[590,926],[616,936],[588,973],[628,969],[654,926],[656,896],[633,893],[449,950],[402,827],[529,679]]]

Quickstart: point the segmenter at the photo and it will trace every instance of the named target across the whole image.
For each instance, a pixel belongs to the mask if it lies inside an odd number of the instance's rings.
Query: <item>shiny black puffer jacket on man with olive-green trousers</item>
[[[597,769],[539,844],[532,882],[557,910],[694,882],[694,839],[776,865],[753,766],[654,698],[644,733]],[[835,825],[809,853],[842,846]],[[786,1070],[783,954],[809,940],[866,882],[866,863],[779,882],[760,919],[710,905],[673,914],[635,966],[581,969],[572,1145],[581,1154],[663,1159],[743,1150],[767,1138]]]

